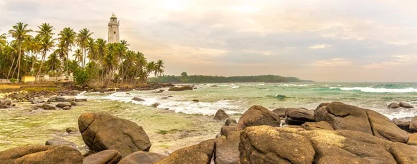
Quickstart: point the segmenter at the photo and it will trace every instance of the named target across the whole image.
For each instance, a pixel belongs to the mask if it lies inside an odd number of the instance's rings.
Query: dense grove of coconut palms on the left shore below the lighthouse
[[[0,31],[0,79],[19,82],[22,76],[69,76],[77,83],[137,83],[149,76],[161,76],[163,60],[147,61],[140,51],[132,51],[126,40],[107,43],[92,38],[87,28],[78,33],[65,27],[55,33],[44,23],[37,30],[19,22],[8,33]],[[34,34],[34,35],[31,35]],[[8,36],[13,40],[8,41]],[[70,59],[73,56],[73,60]],[[39,80],[38,80],[39,82]]]

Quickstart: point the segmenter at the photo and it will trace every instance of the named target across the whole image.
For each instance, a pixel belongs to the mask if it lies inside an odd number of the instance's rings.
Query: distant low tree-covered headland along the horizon
[[[161,83],[286,83],[286,82],[311,82],[298,79],[296,77],[284,77],[277,75],[259,76],[204,76],[190,75],[183,72],[181,76],[157,76],[149,81]]]

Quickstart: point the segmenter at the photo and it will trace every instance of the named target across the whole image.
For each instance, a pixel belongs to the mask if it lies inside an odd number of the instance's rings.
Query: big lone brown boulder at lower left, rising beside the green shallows
[[[83,113],[79,117],[79,130],[85,144],[96,152],[115,149],[124,157],[151,147],[142,126],[107,113]]]

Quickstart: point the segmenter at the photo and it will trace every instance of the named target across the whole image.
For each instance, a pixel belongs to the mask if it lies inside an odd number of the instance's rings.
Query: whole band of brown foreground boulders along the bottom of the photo
[[[224,110],[218,138],[183,147],[169,156],[148,152],[142,126],[107,113],[83,113],[79,132],[93,154],[83,157],[69,142],[0,152],[6,163],[417,163],[417,133],[384,115],[341,102],[316,110],[252,106],[238,122]],[[396,121],[396,122],[395,122]],[[409,121],[417,130],[417,117]],[[403,123],[403,122],[402,122]],[[72,130],[73,131],[73,130]],[[53,146],[51,146],[53,145]],[[19,154],[19,156],[15,156]]]

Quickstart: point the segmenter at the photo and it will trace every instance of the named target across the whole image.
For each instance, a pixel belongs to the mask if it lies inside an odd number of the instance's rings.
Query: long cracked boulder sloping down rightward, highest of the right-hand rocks
[[[335,130],[352,130],[369,133],[395,142],[407,142],[408,133],[373,110],[332,102],[314,111],[316,121],[325,121]]]

